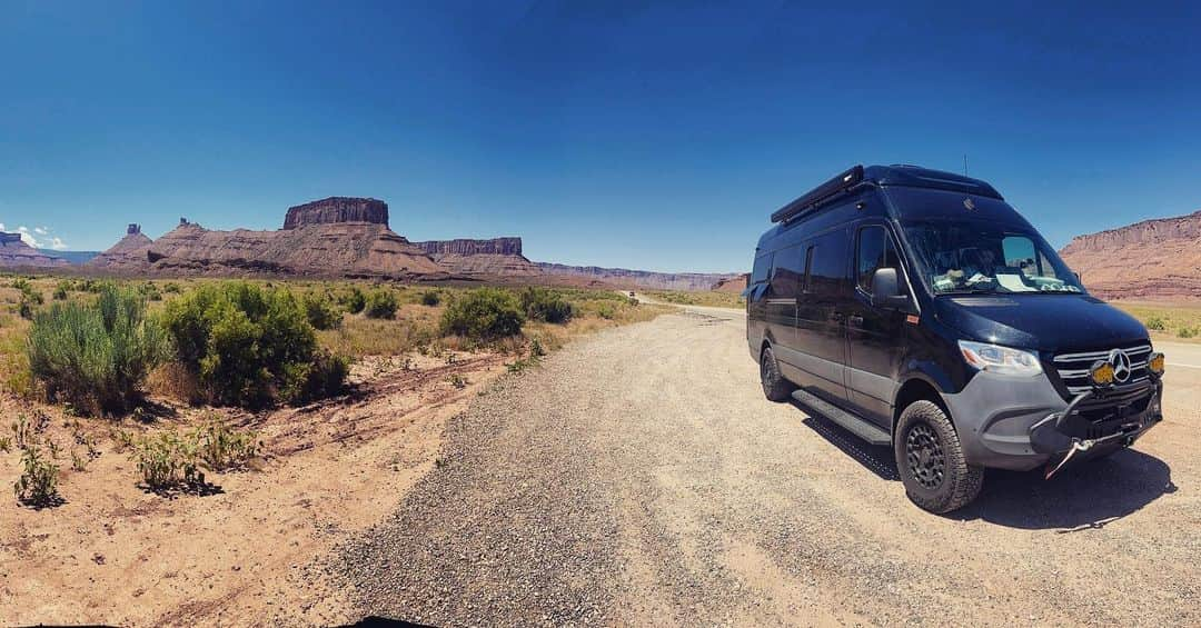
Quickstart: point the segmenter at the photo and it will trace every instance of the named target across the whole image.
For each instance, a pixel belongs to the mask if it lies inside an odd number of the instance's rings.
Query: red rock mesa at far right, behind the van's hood
[[[1077,235],[1059,256],[1097,297],[1201,297],[1201,211]]]

